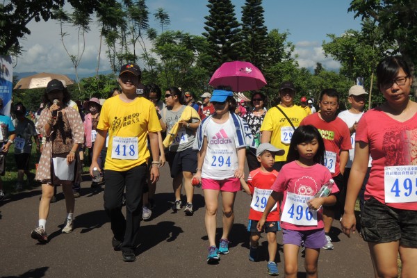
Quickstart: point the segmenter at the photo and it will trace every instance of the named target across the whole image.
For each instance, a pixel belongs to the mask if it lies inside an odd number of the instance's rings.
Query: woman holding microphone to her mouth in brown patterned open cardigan
[[[67,218],[62,232],[71,233],[73,228],[75,200],[72,185],[80,178],[77,153],[84,142],[84,129],[78,111],[67,106],[69,101],[70,93],[63,83],[56,79],[49,81],[44,93],[46,108],[36,124],[42,136],[47,138],[35,176],[42,183],[38,227],[31,233],[31,237],[40,243],[48,242],[46,224],[54,186],[63,186],[65,195]]]

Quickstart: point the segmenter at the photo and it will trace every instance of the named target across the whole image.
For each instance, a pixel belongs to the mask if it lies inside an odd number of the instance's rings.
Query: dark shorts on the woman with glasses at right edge
[[[361,234],[368,243],[400,240],[404,247],[417,247],[417,211],[391,208],[371,197],[361,213]]]

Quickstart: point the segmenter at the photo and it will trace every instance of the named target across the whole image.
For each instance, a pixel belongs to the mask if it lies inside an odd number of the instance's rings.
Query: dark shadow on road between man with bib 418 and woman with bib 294
[[[172,242],[183,233],[181,227],[175,226],[175,222],[163,221],[156,225],[140,227],[141,243],[136,249],[136,256],[146,252],[163,241]]]

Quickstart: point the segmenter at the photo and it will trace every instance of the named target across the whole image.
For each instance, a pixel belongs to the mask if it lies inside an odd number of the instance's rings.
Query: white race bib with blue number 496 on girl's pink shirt
[[[299,226],[317,226],[317,211],[310,211],[307,201],[312,196],[288,192],[281,221]]]

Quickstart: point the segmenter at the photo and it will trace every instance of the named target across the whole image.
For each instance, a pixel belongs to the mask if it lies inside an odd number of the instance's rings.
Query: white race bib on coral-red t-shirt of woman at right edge
[[[417,166],[384,167],[386,203],[417,202]]]

